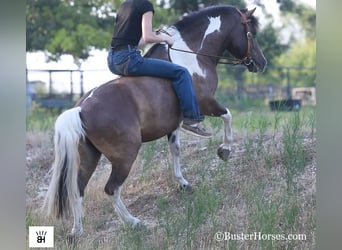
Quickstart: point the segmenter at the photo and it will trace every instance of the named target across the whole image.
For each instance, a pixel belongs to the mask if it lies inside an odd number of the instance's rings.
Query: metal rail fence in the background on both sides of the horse
[[[243,66],[219,67],[220,82],[229,78],[225,88],[237,99],[306,98],[305,104],[316,104],[314,68],[268,67],[265,73],[253,74]],[[27,70],[27,103],[31,99],[43,107],[70,107],[87,91],[114,78],[108,70]],[[304,86],[310,88],[293,88]]]

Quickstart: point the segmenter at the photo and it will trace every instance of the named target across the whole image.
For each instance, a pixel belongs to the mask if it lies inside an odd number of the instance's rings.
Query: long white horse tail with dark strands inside
[[[80,197],[77,184],[77,170],[80,165],[78,143],[85,137],[80,118],[81,107],[64,111],[56,120],[52,164],[52,178],[43,208],[47,214],[57,218],[67,217],[76,209]]]

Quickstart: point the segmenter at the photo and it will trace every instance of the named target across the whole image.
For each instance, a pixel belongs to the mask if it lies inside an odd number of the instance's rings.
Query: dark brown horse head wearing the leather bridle
[[[250,72],[263,72],[267,60],[256,39],[258,21],[253,16],[255,9],[240,10],[236,8],[238,15],[235,16],[238,18],[230,32],[227,50],[246,65]]]

